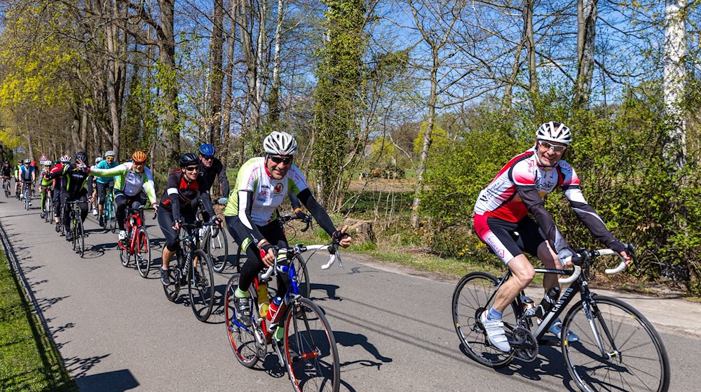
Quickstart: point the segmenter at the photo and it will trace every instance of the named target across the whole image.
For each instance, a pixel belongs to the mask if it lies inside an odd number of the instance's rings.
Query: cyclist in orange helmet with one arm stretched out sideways
[[[119,241],[123,241],[127,237],[127,232],[124,229],[127,206],[137,209],[146,202],[142,190],[146,193],[151,206],[157,207],[154,176],[151,174],[151,169],[146,166],[147,158],[144,151],[137,150],[132,154],[132,162],[125,162],[111,169],[90,168],[90,174],[96,177],[114,177],[114,203],[117,207],[116,218],[119,227]]]

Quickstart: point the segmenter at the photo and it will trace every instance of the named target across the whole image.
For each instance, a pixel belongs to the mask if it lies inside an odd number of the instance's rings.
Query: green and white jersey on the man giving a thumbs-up
[[[275,180],[266,170],[264,157],[251,158],[238,169],[234,192],[229,195],[224,215],[239,215],[239,191],[251,192],[253,193],[252,223],[264,226],[277,218],[275,209],[283,203],[288,191],[292,190],[297,195],[308,187],[307,181],[297,165],[293,164],[283,179]],[[241,218],[243,220],[245,216]]]

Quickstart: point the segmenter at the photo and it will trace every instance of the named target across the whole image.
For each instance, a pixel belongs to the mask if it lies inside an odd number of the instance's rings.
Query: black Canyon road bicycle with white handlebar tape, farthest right
[[[632,246],[627,253],[634,260]],[[452,314],[455,330],[465,352],[472,360],[489,367],[503,367],[512,360],[531,361],[538,356],[538,344],[559,345],[567,370],[582,391],[658,391],[669,389],[669,358],[665,345],[653,325],[636,309],[618,298],[592,293],[587,284],[601,255],[616,255],[611,249],[579,250],[573,258],[573,270],[536,268],[539,274],[569,275],[560,283],[571,283],[562,297],[534,323],[524,316],[524,293],[504,311],[504,329],[512,351],[504,353],[489,343],[480,315],[494,303],[496,290],[510,278],[507,271],[500,279],[485,272],[463,276],[455,288]],[[625,262],[606,269],[616,274]],[[572,302],[576,293],[581,300],[572,305],[562,321],[561,336],[544,336],[555,319]],[[536,328],[534,331],[532,328]],[[566,338],[578,335],[576,342]]]

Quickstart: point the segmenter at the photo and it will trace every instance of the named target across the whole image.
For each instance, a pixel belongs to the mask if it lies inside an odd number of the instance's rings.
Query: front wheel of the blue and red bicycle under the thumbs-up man
[[[283,355],[294,390],[338,392],[339,350],[324,312],[305,297],[298,297],[289,306]]]

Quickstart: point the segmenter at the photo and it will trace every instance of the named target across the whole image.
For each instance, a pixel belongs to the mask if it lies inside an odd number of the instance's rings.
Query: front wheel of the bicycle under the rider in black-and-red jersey
[[[187,288],[190,292],[190,305],[192,312],[199,321],[207,321],[212,314],[212,306],[215,304],[215,276],[212,272],[212,262],[202,249],[195,251],[194,263],[190,268],[194,274],[188,274]]]

